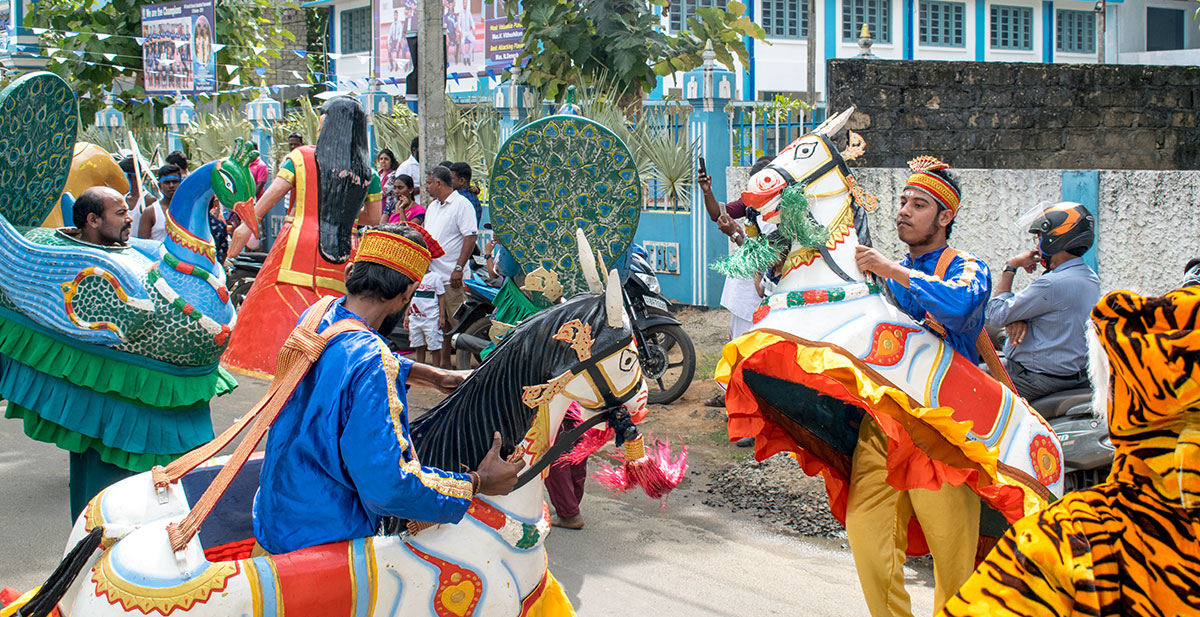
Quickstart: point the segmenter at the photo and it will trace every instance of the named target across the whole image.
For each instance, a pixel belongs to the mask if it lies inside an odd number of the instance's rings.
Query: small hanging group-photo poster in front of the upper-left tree
[[[142,62],[146,91],[216,91],[215,25],[212,0],[143,6]]]

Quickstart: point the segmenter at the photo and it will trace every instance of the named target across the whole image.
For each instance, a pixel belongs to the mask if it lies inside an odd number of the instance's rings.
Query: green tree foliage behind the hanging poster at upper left
[[[32,5],[29,26],[46,28],[43,47],[67,53],[58,54],[62,61],[50,62],[54,71],[79,95],[79,113],[88,119],[103,107],[103,92],[115,83],[132,84],[124,96],[146,96],[142,79],[142,47],[133,40],[142,36],[142,6],[158,0],[38,0]],[[276,18],[283,8],[296,8],[293,0],[236,0],[216,2],[216,42],[226,46],[217,52],[217,89],[228,88],[234,76],[242,85],[256,85],[260,79],[256,68],[265,68],[280,50],[295,43],[295,35],[284,30]],[[77,36],[68,32],[79,32]],[[113,35],[101,40],[95,35]],[[256,50],[262,49],[262,52]],[[115,54],[109,59],[104,54]],[[88,64],[92,62],[92,64]],[[236,65],[227,71],[226,65]],[[254,92],[246,96],[253,97]],[[239,94],[222,95],[217,104],[239,104]],[[151,106],[126,106],[126,113],[160,118]]]

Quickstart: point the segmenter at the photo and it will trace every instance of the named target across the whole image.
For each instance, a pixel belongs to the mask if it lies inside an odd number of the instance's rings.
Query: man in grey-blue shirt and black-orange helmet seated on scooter
[[[1088,388],[1087,316],[1100,299],[1100,280],[1080,257],[1096,239],[1094,220],[1080,204],[1045,208],[1030,233],[1037,250],[1008,259],[988,302],[988,324],[1008,331],[1004,358],[1016,394],[1027,401]],[[1013,294],[1016,270],[1045,274]]]

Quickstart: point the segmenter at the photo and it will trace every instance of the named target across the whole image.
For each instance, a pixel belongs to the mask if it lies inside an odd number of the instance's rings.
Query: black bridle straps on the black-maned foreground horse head
[[[596,390],[596,394],[600,395],[600,399],[604,402],[604,407],[600,408],[599,413],[580,423],[575,429],[559,435],[558,438],[554,439],[554,445],[546,449],[536,462],[530,465],[524,472],[521,473],[521,475],[517,477],[517,485],[514,490],[524,486],[530,480],[540,475],[546,467],[574,448],[575,442],[577,442],[580,437],[583,437],[583,433],[600,423],[608,423],[608,426],[616,433],[617,447],[620,447],[626,441],[637,438],[637,426],[634,425],[634,420],[630,418],[629,411],[625,409],[625,401],[632,399],[634,393],[636,393],[637,389],[630,385],[629,390],[622,395],[613,393],[612,388],[608,385],[611,381],[608,379],[605,370],[600,367],[600,363],[628,348],[630,341],[632,340],[634,335],[630,333],[628,336],[623,336],[612,345],[602,348],[600,353],[593,354],[587,360],[568,369],[566,372],[570,372],[571,375],[584,373],[589,377],[592,387]],[[635,384],[637,382],[635,382]]]

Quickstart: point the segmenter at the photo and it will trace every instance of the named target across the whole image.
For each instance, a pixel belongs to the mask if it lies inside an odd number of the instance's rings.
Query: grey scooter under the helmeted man
[[[1004,330],[988,328],[1003,357]],[[1092,389],[1076,388],[1028,401],[1050,425],[1062,445],[1063,490],[1079,491],[1104,483],[1112,471],[1115,449],[1104,418],[1092,413]]]

